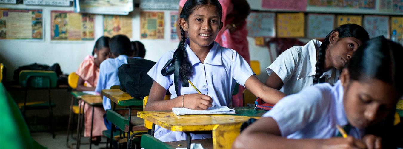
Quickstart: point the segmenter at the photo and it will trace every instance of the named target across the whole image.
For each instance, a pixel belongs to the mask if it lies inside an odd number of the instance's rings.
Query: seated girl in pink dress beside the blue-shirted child
[[[79,68],[75,72],[78,76],[78,91],[94,91],[97,85],[99,68],[101,62],[109,58],[109,37],[102,36],[96,42],[92,51],[92,56],[87,56],[81,62]],[[94,57],[96,54],[96,57]],[[85,84],[85,85],[84,85]],[[84,102],[82,101],[81,104]],[[91,133],[91,116],[92,106],[85,105],[85,130],[84,137],[90,137]],[[106,130],[103,115],[105,110],[102,107],[94,107],[94,119],[92,129],[92,141],[95,145],[101,141],[102,131]]]

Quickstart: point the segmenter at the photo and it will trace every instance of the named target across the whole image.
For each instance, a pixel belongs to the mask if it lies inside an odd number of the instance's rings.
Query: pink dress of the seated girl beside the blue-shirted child
[[[99,68],[94,63],[93,56],[87,56],[81,62],[79,68],[75,72],[81,79],[85,80],[87,87],[95,87],[97,85]],[[81,106],[83,106],[83,101],[81,101]],[[90,137],[91,135],[91,116],[92,116],[92,106],[86,104],[84,109],[85,120],[84,120],[84,137]],[[94,107],[94,121],[92,128],[92,137],[102,136],[102,131],[106,130],[104,124],[105,110],[102,107]]]

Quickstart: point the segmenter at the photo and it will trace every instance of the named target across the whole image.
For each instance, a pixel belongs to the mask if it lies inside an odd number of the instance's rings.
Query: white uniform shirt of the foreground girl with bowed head
[[[288,139],[327,139],[336,137],[336,125],[349,122],[343,106],[343,86],[320,83],[278,101],[263,117],[273,118],[281,136]],[[351,127],[350,136],[361,139],[364,129]]]

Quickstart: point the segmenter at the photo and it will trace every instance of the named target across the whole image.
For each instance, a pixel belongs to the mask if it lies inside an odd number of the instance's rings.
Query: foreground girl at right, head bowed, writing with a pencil
[[[281,99],[248,126],[235,148],[380,148],[365,128],[394,110],[403,94],[403,47],[384,37],[362,45],[334,86],[320,83]],[[338,137],[345,126],[347,138]]]

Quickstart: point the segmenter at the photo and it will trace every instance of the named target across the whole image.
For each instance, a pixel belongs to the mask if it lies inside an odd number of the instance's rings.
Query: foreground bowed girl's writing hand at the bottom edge
[[[334,137],[330,139],[325,139],[322,141],[321,148],[323,149],[366,149],[366,145],[364,142],[355,139],[354,137],[347,136],[347,138],[343,137]]]

